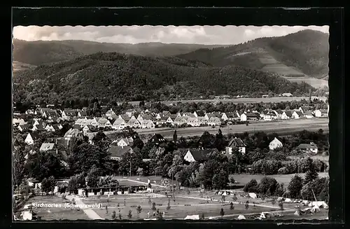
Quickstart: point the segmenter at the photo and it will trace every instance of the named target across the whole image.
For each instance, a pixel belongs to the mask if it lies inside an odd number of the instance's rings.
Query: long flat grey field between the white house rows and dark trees
[[[178,138],[180,137],[193,137],[200,136],[204,131],[208,131],[211,134],[216,134],[218,129],[221,129],[223,134],[234,134],[243,132],[276,132],[279,135],[289,135],[293,132],[299,132],[302,130],[317,131],[322,129],[324,132],[328,132],[328,122],[327,118],[312,118],[312,119],[302,119],[302,120],[281,120],[276,122],[259,122],[250,123],[247,125],[231,125],[228,127],[185,127],[177,128],[176,133]],[[139,134],[162,134],[163,137],[172,137],[174,134],[174,128],[155,128],[155,129],[141,129],[136,130]],[[106,135],[113,134],[116,131],[104,132]]]

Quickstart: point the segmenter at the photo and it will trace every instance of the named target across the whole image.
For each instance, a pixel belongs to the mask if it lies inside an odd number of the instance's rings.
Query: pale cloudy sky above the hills
[[[18,26],[13,28],[13,38],[25,41],[84,40],[107,43],[161,42],[231,45],[260,37],[285,36],[303,29],[329,33],[328,26]]]

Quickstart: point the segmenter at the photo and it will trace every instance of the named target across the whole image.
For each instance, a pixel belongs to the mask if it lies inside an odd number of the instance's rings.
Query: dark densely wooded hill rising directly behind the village
[[[17,77],[19,76],[19,77]],[[74,98],[108,101],[198,99],[214,95],[262,95],[314,91],[305,83],[245,67],[210,67],[179,57],[95,53],[19,71],[14,100],[55,102]]]

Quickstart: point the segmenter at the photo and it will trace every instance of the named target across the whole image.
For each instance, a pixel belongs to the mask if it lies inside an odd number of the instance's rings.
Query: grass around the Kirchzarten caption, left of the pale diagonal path
[[[38,203],[38,204],[62,204],[62,199],[59,196],[56,195],[42,195],[42,196],[35,196],[28,200],[27,204],[30,203]],[[20,209],[20,211],[23,211],[23,209]],[[87,217],[87,215],[84,213],[83,210],[77,210],[77,209],[70,209],[70,208],[64,208],[64,207],[38,207],[36,209],[33,209],[34,213],[37,214],[37,216],[41,216],[41,220],[48,221],[48,220],[58,220],[58,219],[67,219],[67,220],[88,220],[90,219]]]

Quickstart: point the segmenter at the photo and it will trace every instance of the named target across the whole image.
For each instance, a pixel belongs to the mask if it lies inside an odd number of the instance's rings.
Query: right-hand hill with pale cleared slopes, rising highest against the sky
[[[321,79],[328,76],[328,39],[328,34],[307,29],[236,46],[202,48],[178,57],[200,60],[215,67],[237,65],[281,76]]]

